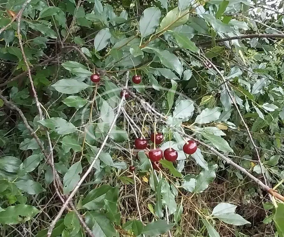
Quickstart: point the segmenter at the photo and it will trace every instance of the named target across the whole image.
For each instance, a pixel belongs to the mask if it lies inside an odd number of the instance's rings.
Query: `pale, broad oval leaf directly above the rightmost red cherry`
[[[188,121],[194,112],[194,102],[192,100],[181,100],[176,105],[172,115],[174,118]]]

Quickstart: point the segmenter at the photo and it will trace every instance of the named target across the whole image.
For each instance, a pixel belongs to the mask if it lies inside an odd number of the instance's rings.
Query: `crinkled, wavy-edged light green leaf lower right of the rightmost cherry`
[[[202,170],[196,178],[194,192],[202,192],[208,188],[209,183],[216,177],[217,164],[208,167],[208,170]]]

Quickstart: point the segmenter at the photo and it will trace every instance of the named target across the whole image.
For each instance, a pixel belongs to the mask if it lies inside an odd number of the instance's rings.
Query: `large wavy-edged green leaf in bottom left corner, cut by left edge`
[[[1,211],[0,223],[3,225],[23,223],[30,220],[38,213],[39,210],[30,205],[18,204],[16,206],[8,206],[5,211]]]

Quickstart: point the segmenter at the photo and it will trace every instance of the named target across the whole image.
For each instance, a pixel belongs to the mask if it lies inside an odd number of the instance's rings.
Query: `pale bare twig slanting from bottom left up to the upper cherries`
[[[126,73],[126,85],[125,87],[127,87],[127,84],[128,84],[128,77],[129,77],[129,72]],[[108,130],[108,133],[107,135],[105,136],[105,139],[103,140],[103,143],[101,145],[101,147],[99,148],[99,151],[98,153],[96,154],[94,160],[92,161],[91,165],[89,166],[89,168],[87,169],[87,171],[84,173],[83,177],[80,179],[80,181],[76,184],[75,188],[73,189],[73,191],[71,192],[71,194],[69,195],[69,197],[67,198],[67,200],[65,201],[65,203],[63,204],[63,206],[61,207],[61,209],[59,210],[59,213],[56,215],[56,217],[54,218],[54,220],[51,222],[51,225],[47,231],[47,237],[50,237],[51,236],[51,233],[52,233],[52,230],[56,224],[56,222],[59,220],[59,218],[61,217],[63,211],[65,210],[68,202],[71,200],[71,198],[75,195],[76,191],[79,189],[79,187],[81,186],[81,184],[83,183],[83,181],[85,180],[85,178],[88,176],[88,174],[91,172],[96,160],[98,159],[99,157],[99,154],[103,151],[103,148],[105,146],[105,144],[107,143],[107,140],[108,140],[108,137],[112,131],[112,128],[114,127],[115,123],[116,123],[116,120],[119,116],[119,113],[120,113],[120,110],[121,110],[121,107],[122,107],[122,104],[124,102],[124,99],[125,99],[125,90],[124,90],[124,93],[123,93],[123,96],[120,100],[120,103],[118,105],[118,108],[117,108],[117,111],[116,111],[116,116],[114,117],[110,127],[109,127],[109,130]]]

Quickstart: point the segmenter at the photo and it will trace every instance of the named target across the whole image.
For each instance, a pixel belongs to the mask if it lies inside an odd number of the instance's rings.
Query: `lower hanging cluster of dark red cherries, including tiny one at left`
[[[163,138],[164,138],[164,136],[161,133],[156,133],[156,134],[152,133],[150,139],[155,145],[159,145],[163,142]],[[142,138],[142,137],[136,138],[135,141],[134,141],[134,144],[135,144],[135,147],[137,149],[144,150],[144,149],[147,148],[148,141],[147,141],[147,139]],[[191,155],[194,152],[196,152],[196,150],[197,150],[197,143],[193,140],[188,140],[183,146],[183,151],[186,154]],[[163,151],[160,148],[155,148],[155,146],[154,146],[154,149],[151,149],[148,152],[148,157],[152,162],[153,169],[159,170],[161,168],[161,164],[158,161],[161,160],[163,158],[163,156],[164,156],[165,160],[168,160],[170,162],[174,162],[178,157],[178,153],[175,149],[173,149],[171,147],[165,149],[164,153],[163,153]],[[134,171],[135,167],[130,166],[129,170]]]

